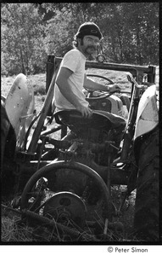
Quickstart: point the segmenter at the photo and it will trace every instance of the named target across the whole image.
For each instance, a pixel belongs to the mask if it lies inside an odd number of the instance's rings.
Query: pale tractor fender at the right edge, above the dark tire
[[[157,104],[156,85],[151,85],[144,91],[137,110],[134,142],[138,137],[154,130],[159,124],[159,107]]]

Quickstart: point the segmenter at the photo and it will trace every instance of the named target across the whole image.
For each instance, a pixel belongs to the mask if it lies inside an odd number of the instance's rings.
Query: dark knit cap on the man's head
[[[98,37],[99,39],[103,38],[103,35],[100,32],[99,27],[93,22],[85,22],[81,24],[81,26],[78,29],[78,32],[75,34],[75,37],[81,38],[88,35]]]

